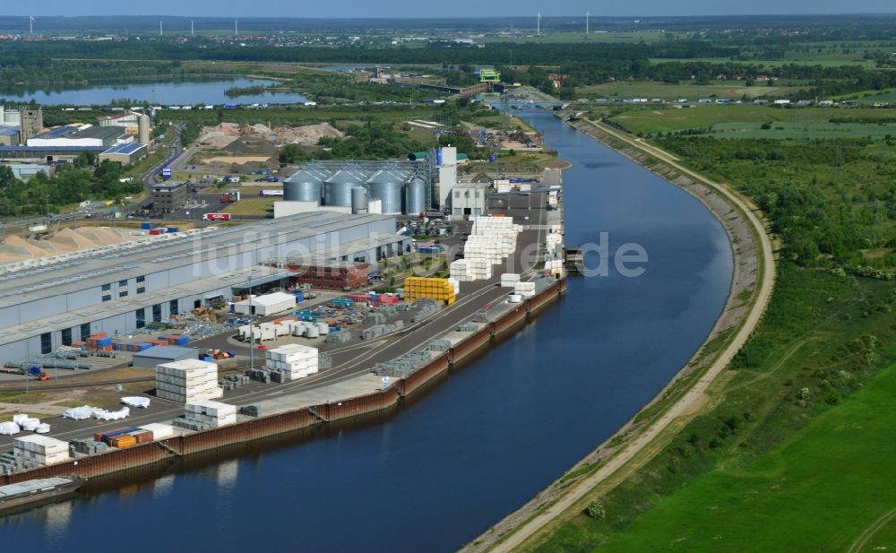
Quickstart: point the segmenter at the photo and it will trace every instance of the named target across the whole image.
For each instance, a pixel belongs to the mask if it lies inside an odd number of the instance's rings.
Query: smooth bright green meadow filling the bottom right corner
[[[896,364],[743,469],[710,471],[658,499],[599,550],[846,551],[896,507],[894,413]],[[863,550],[894,539],[890,523]]]

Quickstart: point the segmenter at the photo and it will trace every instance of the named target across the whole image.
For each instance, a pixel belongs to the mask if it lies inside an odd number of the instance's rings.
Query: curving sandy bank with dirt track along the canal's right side
[[[710,386],[749,339],[771,299],[775,264],[771,238],[755,206],[724,184],[681,166],[649,144],[588,120],[573,126],[699,199],[728,234],[734,275],[725,308],[702,348],[625,427],[521,509],[463,551],[510,551],[537,544],[585,507],[596,493],[636,471],[712,400]]]

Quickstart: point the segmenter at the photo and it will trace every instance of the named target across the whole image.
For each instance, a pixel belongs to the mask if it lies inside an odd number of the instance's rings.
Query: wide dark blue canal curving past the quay
[[[153,553],[452,551],[610,436],[711,330],[730,248],[690,195],[549,113],[521,117],[573,163],[568,243],[638,243],[640,278],[571,277],[533,324],[380,424],[0,519],[3,549],[96,550],[111,530]]]

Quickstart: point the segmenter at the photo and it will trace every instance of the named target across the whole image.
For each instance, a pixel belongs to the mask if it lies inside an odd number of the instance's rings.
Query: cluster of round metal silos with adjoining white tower
[[[444,208],[457,184],[457,149],[434,150],[424,160],[313,161],[283,181],[283,202],[274,216],[327,209],[352,213],[418,215]],[[280,209],[278,209],[280,208]]]

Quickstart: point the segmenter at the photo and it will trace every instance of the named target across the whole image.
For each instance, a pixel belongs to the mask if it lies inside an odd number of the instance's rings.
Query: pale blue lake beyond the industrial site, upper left
[[[228,80],[183,82],[138,82],[106,84],[65,90],[22,90],[0,85],[0,98],[14,102],[35,100],[44,106],[106,106],[114,99],[134,99],[150,102],[153,106],[196,106],[199,104],[295,104],[306,101],[298,92],[268,92],[247,96],[228,97],[231,87],[270,86],[276,82],[266,79],[237,77]]]

